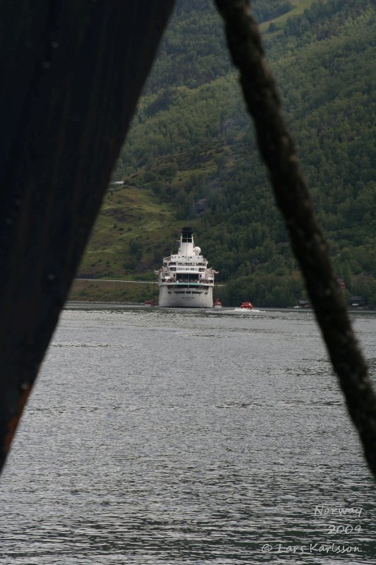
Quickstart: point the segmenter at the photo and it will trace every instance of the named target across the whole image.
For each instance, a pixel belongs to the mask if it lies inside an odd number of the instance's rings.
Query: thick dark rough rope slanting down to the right
[[[284,216],[348,412],[376,477],[376,396],[281,114],[274,78],[265,64],[260,32],[248,0],[215,0],[215,4],[224,18],[229,51],[240,71],[245,103],[254,120],[257,143],[269,169],[277,206]]]

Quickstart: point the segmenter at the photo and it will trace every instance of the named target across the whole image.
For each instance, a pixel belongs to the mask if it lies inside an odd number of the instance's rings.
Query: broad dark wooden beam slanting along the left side
[[[1,4],[0,467],[173,4]]]

